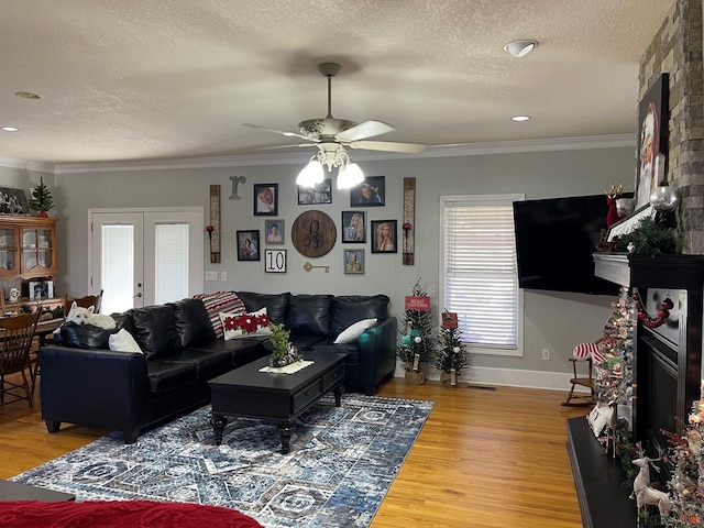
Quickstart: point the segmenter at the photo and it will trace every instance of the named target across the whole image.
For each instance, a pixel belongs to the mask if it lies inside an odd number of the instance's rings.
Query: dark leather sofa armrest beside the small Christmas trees
[[[360,374],[367,394],[373,394],[376,385],[396,370],[397,328],[397,319],[392,316],[367,328],[360,336]]]

